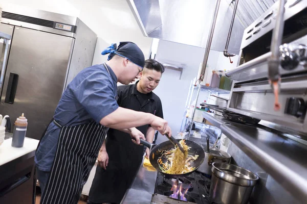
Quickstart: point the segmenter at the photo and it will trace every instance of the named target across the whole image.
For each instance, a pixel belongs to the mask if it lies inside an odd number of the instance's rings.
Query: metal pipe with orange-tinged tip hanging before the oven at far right
[[[271,40],[271,57],[268,61],[268,77],[269,82],[271,83],[275,101],[274,101],[274,109],[275,111],[280,110],[280,104],[278,101],[279,94],[279,84],[280,84],[280,74],[279,74],[279,46],[282,41],[283,34],[283,14],[284,14],[284,4],[286,0],[279,0],[279,8],[277,13],[276,25],[273,30],[272,40]]]

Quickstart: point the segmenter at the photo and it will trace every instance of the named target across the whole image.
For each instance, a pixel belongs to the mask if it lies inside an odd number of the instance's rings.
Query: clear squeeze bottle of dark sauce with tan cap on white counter
[[[28,119],[24,116],[24,114],[21,114],[21,116],[16,119],[15,125],[14,125],[14,132],[13,132],[13,139],[12,139],[13,147],[23,147],[24,146],[27,126],[28,126]]]

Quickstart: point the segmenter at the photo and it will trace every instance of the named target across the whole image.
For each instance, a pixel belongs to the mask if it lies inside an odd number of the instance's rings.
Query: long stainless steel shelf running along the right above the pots
[[[229,122],[208,113],[203,116],[298,200],[307,200],[306,145],[260,125]]]

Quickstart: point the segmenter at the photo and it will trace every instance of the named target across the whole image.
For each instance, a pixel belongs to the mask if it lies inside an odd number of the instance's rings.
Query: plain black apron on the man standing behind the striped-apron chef
[[[109,130],[115,138],[106,139],[109,162],[104,170],[97,165],[89,193],[94,203],[120,203],[127,189],[133,183],[142,163],[144,146],[131,142],[131,137],[117,130]]]

